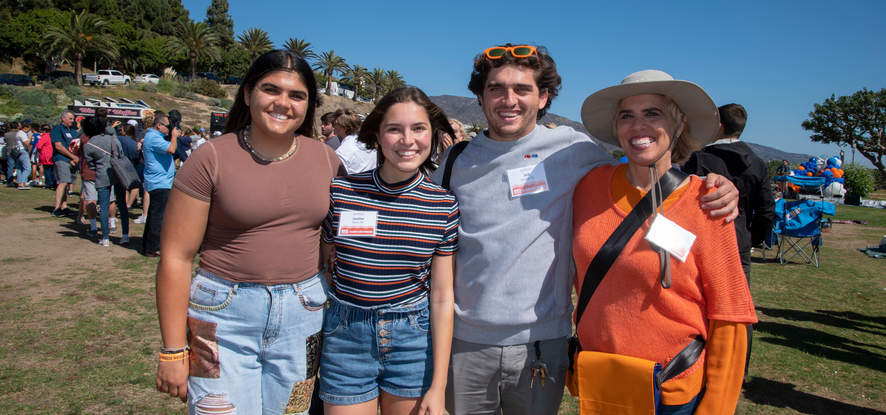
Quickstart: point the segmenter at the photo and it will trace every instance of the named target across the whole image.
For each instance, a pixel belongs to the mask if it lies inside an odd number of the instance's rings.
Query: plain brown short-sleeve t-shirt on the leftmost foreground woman
[[[200,267],[235,282],[285,284],[319,270],[320,224],[341,162],[298,137],[292,157],[257,161],[230,133],[191,154],[173,188],[210,203]]]

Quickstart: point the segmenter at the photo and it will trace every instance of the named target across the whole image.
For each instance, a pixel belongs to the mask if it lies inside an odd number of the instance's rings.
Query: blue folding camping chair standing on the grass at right
[[[836,214],[836,206],[824,200],[775,202],[773,233],[778,239],[778,262],[799,258],[806,264],[821,264],[821,225],[823,215]]]

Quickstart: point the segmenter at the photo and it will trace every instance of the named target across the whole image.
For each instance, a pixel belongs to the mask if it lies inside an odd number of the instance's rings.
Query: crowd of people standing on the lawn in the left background
[[[164,130],[163,124],[155,123],[155,120],[164,119],[166,118],[162,113],[150,113],[141,120],[115,120],[108,117],[106,108],[99,108],[94,117],[79,119],[73,111],[65,110],[55,126],[32,124],[28,120],[3,123],[0,125],[0,175],[5,176],[3,180],[7,186],[19,190],[31,190],[35,187],[54,190],[55,201],[51,214],[56,217],[72,217],[88,237],[102,246],[110,245],[109,234],[116,232],[118,228],[119,213],[122,230],[119,243],[128,245],[129,210],[140,204],[143,213],[134,218],[134,223],[146,224],[151,210],[151,191],[163,188],[164,175],[168,182],[166,189],[171,187],[175,169],[169,167],[173,163],[163,164],[168,160],[162,155],[158,158],[155,151],[158,134],[165,134],[165,138],[161,140],[172,144],[172,141],[167,141],[170,135]],[[95,120],[100,120],[101,125],[95,124]],[[165,132],[160,133],[157,130]],[[144,146],[146,136],[149,139],[147,147]],[[94,145],[88,145],[93,138],[96,139]],[[174,138],[175,144],[170,154],[176,160],[176,165],[180,166],[191,151],[205,143],[210,136],[201,128],[185,129],[184,134],[178,131]],[[101,151],[109,153],[104,154]],[[165,152],[165,148],[163,151]],[[113,186],[114,176],[109,160],[111,155],[118,154],[128,159],[138,170],[143,186],[133,189]],[[76,190],[72,186],[78,178],[81,183],[79,209],[74,212],[68,208],[68,197]],[[147,255],[156,255],[159,250],[164,206],[163,195],[160,193],[155,204],[155,217],[158,218],[156,226],[147,226],[153,229],[145,238],[149,242],[144,250]],[[101,234],[99,224],[102,225]]]

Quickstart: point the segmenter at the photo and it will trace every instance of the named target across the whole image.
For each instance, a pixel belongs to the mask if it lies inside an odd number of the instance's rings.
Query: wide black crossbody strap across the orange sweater
[[[661,200],[667,199],[680,186],[680,183],[683,183],[686,177],[686,173],[676,168],[671,168],[665,172],[661,179],[658,180],[658,183],[656,183],[656,186],[659,188],[659,194],[661,194]],[[581,293],[578,295],[578,305],[576,306],[578,312],[575,315],[576,327],[578,327],[578,323],[581,321],[581,316],[584,314],[588,302],[591,301],[591,296],[594,295],[594,291],[597,290],[600,281],[603,281],[603,277],[609,272],[609,267],[615,262],[615,258],[618,257],[618,254],[621,253],[631,237],[634,236],[637,229],[640,229],[640,225],[652,214],[651,198],[652,192],[646,192],[643,199],[634,206],[631,213],[612,232],[612,235],[609,236],[609,239],[606,240],[606,243],[603,244],[603,247],[600,248],[600,251],[591,260],[591,264],[588,265],[588,271],[585,273],[585,279],[581,285]]]

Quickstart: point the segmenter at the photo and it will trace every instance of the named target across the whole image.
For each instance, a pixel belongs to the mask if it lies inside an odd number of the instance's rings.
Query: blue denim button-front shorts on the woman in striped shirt
[[[434,370],[428,301],[367,309],[329,297],[320,399],[357,404],[377,398],[379,389],[403,398],[424,395]]]

